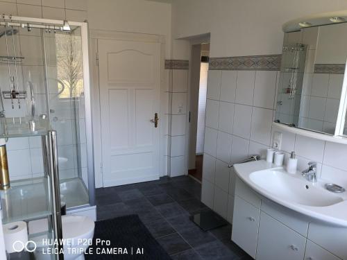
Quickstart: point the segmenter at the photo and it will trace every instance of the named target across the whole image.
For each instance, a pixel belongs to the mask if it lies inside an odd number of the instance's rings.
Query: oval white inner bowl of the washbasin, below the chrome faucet
[[[255,171],[249,179],[269,196],[290,203],[310,207],[328,207],[343,202],[344,199],[327,191],[319,183],[312,184],[303,177],[290,175],[283,169]]]

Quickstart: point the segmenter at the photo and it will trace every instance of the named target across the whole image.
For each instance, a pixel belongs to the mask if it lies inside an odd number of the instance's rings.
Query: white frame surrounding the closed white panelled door
[[[92,114],[94,119],[93,132],[94,132],[94,173],[95,173],[95,187],[103,187],[103,155],[102,155],[102,142],[101,142],[101,103],[100,103],[100,84],[99,84],[99,55],[98,55],[98,40],[124,40],[134,42],[156,42],[160,43],[160,107],[159,119],[164,118],[162,111],[162,92],[167,89],[167,80],[165,80],[164,64],[165,64],[165,36],[164,35],[151,35],[146,33],[128,33],[119,31],[105,31],[105,30],[90,30],[90,78],[92,82]],[[164,125],[160,125],[160,139],[159,139],[159,177],[165,175],[165,165],[163,162],[164,151],[163,142],[166,135]]]

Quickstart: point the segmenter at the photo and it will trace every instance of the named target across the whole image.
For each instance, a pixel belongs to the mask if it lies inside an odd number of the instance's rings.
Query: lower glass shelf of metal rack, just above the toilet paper
[[[49,194],[47,177],[11,182],[8,191],[1,191],[3,224],[51,215]]]

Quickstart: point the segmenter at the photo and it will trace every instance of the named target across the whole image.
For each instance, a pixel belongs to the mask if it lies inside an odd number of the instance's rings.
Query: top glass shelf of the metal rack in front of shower
[[[35,130],[29,127],[29,121],[25,117],[0,118],[0,138],[34,137],[47,135],[52,130],[48,119],[34,119]]]

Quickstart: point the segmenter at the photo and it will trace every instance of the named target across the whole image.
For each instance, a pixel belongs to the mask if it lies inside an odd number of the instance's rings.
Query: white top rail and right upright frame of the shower
[[[33,17],[19,17],[19,16],[4,16],[6,21],[22,21],[24,24],[51,24],[56,26],[63,26],[63,20],[56,19],[42,19]],[[92,123],[92,104],[91,104],[91,89],[90,89],[90,59],[89,59],[89,35],[87,22],[68,21],[70,26],[81,27],[81,44],[82,44],[82,63],[83,63],[83,90],[85,96],[85,134],[87,138],[87,176],[88,176],[88,196],[89,205],[95,205],[95,180],[94,180],[94,147],[93,147],[93,123]],[[81,205],[74,207],[74,209],[86,207]]]

